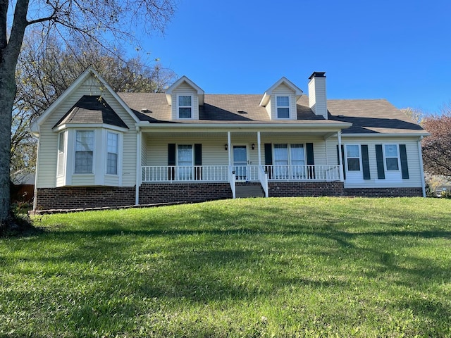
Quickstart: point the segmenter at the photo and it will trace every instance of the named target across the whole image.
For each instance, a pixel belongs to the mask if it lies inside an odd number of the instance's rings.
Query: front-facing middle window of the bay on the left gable
[[[94,130],[75,132],[75,174],[91,174],[94,157]]]

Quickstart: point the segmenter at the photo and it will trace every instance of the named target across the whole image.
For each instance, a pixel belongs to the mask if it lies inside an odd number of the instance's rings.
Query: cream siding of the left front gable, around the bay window
[[[58,123],[63,115],[65,115],[70,108],[81,98],[83,95],[101,95],[113,108],[113,110],[121,117],[126,125],[130,128],[127,132],[123,133],[123,157],[122,157],[122,173],[123,173],[123,186],[135,185],[135,168],[136,168],[136,132],[135,121],[130,115],[123,109],[123,107],[114,99],[114,97],[106,92],[106,89],[102,88],[102,85],[93,76],[89,77],[83,84],[78,87],[72,94],[68,96],[66,101],[60,104],[53,114],[49,115],[47,120],[41,125],[39,130],[39,139],[41,142],[39,149],[39,173],[37,177],[37,187],[56,187],[56,165],[58,157],[58,132],[54,132],[52,127]],[[68,139],[70,141],[70,139]],[[73,140],[68,142],[67,151],[73,155]],[[95,151],[99,151],[99,146],[96,144]],[[97,167],[99,167],[97,165]],[[104,175],[105,169],[95,168],[96,173]],[[98,171],[100,170],[100,171]],[[67,159],[66,175],[73,173],[73,161],[71,158]],[[94,177],[88,177],[86,175],[74,175],[72,180],[67,182],[68,185],[92,185],[94,184]],[[109,180],[109,182],[112,182]],[[61,183],[61,182],[58,182]],[[114,184],[116,185],[116,184]]]

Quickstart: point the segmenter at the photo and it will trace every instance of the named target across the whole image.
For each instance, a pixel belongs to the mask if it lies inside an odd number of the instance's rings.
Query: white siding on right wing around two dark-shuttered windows
[[[337,139],[328,139],[328,164],[335,164],[337,157]],[[342,144],[367,144],[370,168],[370,180],[345,180],[345,188],[383,188],[383,187],[421,187],[421,170],[418,153],[418,141],[412,138],[346,138],[342,136]],[[378,180],[378,170],[376,163],[376,144],[405,144],[407,152],[407,163],[409,168],[409,179],[390,179],[390,175],[385,172],[385,180]],[[399,154],[398,154],[399,156]],[[400,168],[401,170],[401,168]],[[401,175],[399,175],[401,177]]]

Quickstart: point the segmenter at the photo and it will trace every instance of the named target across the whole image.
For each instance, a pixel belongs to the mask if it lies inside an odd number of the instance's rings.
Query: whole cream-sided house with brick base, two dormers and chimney
[[[237,196],[424,196],[427,133],[384,99],[307,96],[282,77],[264,94],[116,93],[92,68],[32,125],[35,209]]]

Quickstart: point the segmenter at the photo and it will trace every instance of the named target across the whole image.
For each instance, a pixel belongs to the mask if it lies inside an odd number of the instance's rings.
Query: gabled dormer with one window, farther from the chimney
[[[199,106],[204,105],[204,91],[186,76],[166,89],[172,120],[199,120]]]

